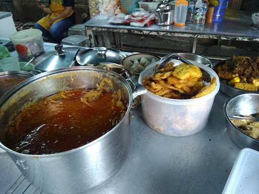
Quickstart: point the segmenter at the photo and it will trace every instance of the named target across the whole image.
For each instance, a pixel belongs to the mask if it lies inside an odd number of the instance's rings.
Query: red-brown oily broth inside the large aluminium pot
[[[126,106],[118,91],[99,90],[100,96],[86,101],[91,92],[67,90],[26,107],[9,123],[6,146],[24,154],[54,154],[99,138],[124,116]]]

